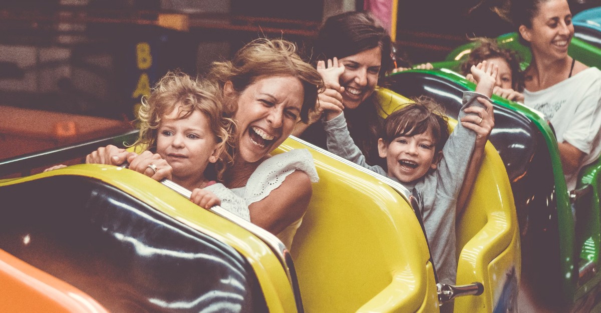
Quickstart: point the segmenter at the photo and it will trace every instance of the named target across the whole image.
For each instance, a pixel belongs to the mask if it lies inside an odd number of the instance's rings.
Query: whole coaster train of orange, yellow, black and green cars
[[[499,42],[525,51],[515,34]],[[456,117],[462,91],[474,88],[452,71],[467,50],[435,64],[446,68],[389,76],[383,85],[390,90],[377,91],[385,113],[426,94]],[[600,50],[577,38],[570,53],[599,66]],[[169,181],[108,165],[30,175],[102,145],[133,142],[129,132],[0,161],[0,176],[22,175],[0,180],[0,287],[10,291],[0,295],[0,307],[438,312],[454,300],[454,312],[493,313],[517,310],[520,284],[555,308],[596,305],[601,165],[587,166],[578,189],[566,190],[551,126],[517,103],[493,101],[495,130],[457,220],[457,286],[437,285],[419,207],[407,189],[296,138],[274,153],[307,148],[320,181],[290,251],[220,207],[199,208]]]

